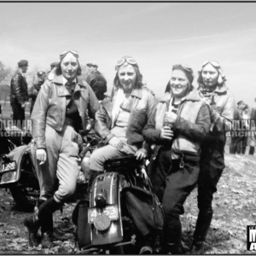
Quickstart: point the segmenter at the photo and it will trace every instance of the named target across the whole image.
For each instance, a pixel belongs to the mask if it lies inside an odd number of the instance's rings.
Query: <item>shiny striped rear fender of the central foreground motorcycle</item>
[[[107,205],[117,205],[119,219],[112,221],[108,230],[96,230],[94,224],[90,224],[90,237],[92,245],[108,245],[123,241],[123,224],[120,205],[120,191],[125,183],[125,177],[118,172],[106,172],[96,177],[90,194],[90,207],[96,207],[95,197],[102,191],[105,192]]]

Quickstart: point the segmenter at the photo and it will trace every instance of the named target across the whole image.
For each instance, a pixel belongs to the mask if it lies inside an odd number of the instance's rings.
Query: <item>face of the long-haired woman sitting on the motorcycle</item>
[[[123,64],[121,67],[119,67],[118,76],[119,82],[122,85],[124,91],[127,93],[131,92],[137,79],[134,67],[127,63]]]

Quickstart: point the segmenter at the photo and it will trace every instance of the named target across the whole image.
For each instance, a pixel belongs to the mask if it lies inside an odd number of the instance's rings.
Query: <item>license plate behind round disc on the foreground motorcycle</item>
[[[88,209],[88,222],[93,224],[99,215],[107,215],[110,220],[119,219],[119,209],[118,206],[107,206],[105,208],[92,207]]]

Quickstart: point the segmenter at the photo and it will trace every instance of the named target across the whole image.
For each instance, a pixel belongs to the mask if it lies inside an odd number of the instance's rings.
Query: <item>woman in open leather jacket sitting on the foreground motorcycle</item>
[[[143,88],[142,74],[137,61],[124,56],[116,64],[113,79],[115,93],[110,100],[103,101],[96,113],[95,131],[105,144],[90,156],[90,179],[88,193],[96,176],[103,172],[106,160],[134,154],[143,160],[148,148],[143,140],[143,127],[154,113],[154,96]]]

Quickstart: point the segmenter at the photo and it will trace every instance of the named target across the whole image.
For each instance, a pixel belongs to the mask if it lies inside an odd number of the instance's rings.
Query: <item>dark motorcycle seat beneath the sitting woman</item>
[[[106,171],[110,169],[116,169],[116,168],[126,169],[127,167],[140,166],[141,164],[142,164],[142,161],[137,160],[134,154],[129,154],[127,156],[119,157],[112,160],[107,160],[104,164],[104,169]]]

